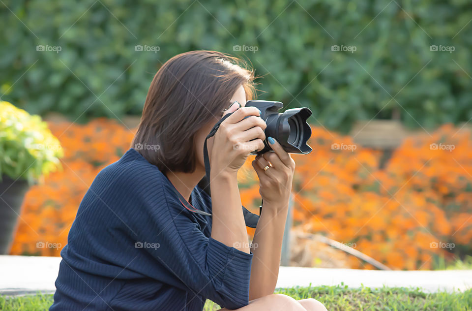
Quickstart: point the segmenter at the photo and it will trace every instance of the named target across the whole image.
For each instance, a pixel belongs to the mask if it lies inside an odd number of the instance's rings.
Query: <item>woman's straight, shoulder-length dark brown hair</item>
[[[174,56],[149,87],[131,147],[163,173],[191,173],[196,166],[195,134],[221,111],[239,86],[246,100],[255,95],[254,71],[245,62],[216,51]]]

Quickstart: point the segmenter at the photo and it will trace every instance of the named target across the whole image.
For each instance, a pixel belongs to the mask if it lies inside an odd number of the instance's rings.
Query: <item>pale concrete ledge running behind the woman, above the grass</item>
[[[0,255],[0,294],[54,293],[60,257]],[[277,287],[338,285],[420,287],[425,292],[472,288],[472,270],[377,271],[280,267]]]

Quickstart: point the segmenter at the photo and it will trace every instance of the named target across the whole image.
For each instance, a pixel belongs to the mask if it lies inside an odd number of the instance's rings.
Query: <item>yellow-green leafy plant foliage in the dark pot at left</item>
[[[59,168],[62,149],[46,122],[9,102],[0,101],[0,178],[27,179]]]

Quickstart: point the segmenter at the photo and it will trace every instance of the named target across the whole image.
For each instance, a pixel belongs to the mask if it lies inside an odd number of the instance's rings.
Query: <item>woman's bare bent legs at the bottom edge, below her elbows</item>
[[[251,300],[249,305],[237,311],[326,311],[323,304],[315,299],[295,300],[283,294],[272,294]],[[220,309],[219,311],[229,311]]]

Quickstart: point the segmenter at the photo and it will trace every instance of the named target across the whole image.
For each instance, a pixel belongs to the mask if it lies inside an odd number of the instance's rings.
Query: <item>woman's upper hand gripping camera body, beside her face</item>
[[[256,107],[241,107],[234,103],[225,113],[234,112],[224,120],[214,135],[211,150],[211,175],[237,173],[249,154],[264,148],[266,122]],[[248,117],[244,119],[245,117]]]

